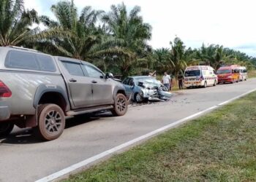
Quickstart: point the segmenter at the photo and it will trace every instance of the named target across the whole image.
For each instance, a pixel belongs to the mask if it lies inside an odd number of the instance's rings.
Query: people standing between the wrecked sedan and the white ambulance
[[[149,73],[148,76],[154,76],[157,77],[156,71],[154,71],[153,73]],[[167,87],[168,90],[172,89],[173,86],[173,79],[170,77],[169,74],[167,74],[167,72],[164,73],[164,76],[162,76],[162,84],[165,85],[165,87]],[[183,89],[183,75],[179,74],[178,75],[178,88],[181,90]]]

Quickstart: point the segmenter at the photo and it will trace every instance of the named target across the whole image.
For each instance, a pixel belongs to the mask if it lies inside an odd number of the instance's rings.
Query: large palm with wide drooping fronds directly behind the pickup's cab
[[[102,30],[95,25],[102,11],[84,7],[78,16],[73,0],[59,1],[51,7],[51,11],[57,21],[46,16],[40,18],[48,27],[47,31],[53,31],[48,39],[39,41],[37,46],[40,50],[91,62],[97,59],[103,61],[107,55],[122,53],[122,50],[109,44],[108,38],[102,36]],[[63,35],[66,33],[66,36],[56,36],[54,30]]]

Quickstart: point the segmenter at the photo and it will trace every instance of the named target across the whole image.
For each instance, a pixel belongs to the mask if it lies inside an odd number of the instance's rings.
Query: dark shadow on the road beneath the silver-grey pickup
[[[76,127],[80,124],[85,124],[88,122],[93,122],[102,117],[110,117],[110,113],[99,113],[99,114],[83,114],[80,116],[75,116],[72,119],[66,120],[65,129]],[[65,130],[64,130],[65,132]],[[57,139],[58,140],[58,139]],[[31,128],[16,128],[7,138],[0,138],[0,146],[8,146],[13,144],[33,144],[33,143],[42,143],[33,133]]]

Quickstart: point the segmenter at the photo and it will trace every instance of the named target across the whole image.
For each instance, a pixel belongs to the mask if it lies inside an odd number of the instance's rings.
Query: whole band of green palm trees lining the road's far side
[[[0,46],[30,47],[52,55],[86,60],[103,71],[128,76],[167,71],[177,77],[187,66],[225,64],[255,68],[256,58],[222,45],[186,47],[176,37],[170,47],[153,50],[148,44],[151,25],[144,23],[140,7],[130,11],[124,3],[112,5],[109,12],[83,7],[74,1],[59,1],[50,10],[54,20],[26,10],[23,0],[0,0]],[[45,30],[39,30],[43,23]],[[35,27],[35,28],[32,28]]]

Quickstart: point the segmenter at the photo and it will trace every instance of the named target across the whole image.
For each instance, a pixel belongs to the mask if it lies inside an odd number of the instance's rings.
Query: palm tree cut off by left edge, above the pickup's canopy
[[[0,1],[0,46],[20,46],[35,39],[38,28],[31,28],[39,23],[37,12],[25,10],[23,0]]]

